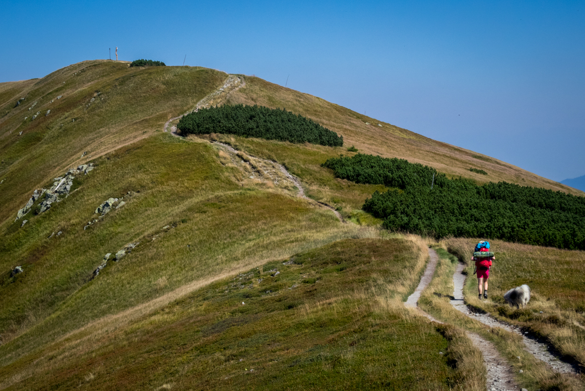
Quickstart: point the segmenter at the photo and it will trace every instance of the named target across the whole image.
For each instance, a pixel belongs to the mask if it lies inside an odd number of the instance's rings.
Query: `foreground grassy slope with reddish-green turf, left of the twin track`
[[[15,361],[2,386],[448,390],[447,339],[401,304],[424,267],[419,250],[346,239],[264,263],[124,328],[63,339],[34,365]]]

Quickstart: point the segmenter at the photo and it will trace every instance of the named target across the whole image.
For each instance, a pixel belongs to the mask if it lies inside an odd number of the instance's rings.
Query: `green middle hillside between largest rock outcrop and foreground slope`
[[[332,212],[299,198],[243,188],[212,146],[170,135],[119,149],[96,164],[65,201],[6,231],[2,270],[18,263],[25,273],[0,286],[6,297],[2,363],[191,283],[195,289],[197,282],[266,259],[379,232],[340,224]],[[97,205],[129,190],[139,193],[83,230]],[[175,228],[161,230],[166,225]],[[47,239],[57,230],[64,234]],[[104,254],[129,242],[140,245],[90,282]]]

